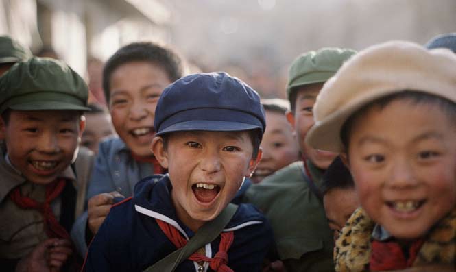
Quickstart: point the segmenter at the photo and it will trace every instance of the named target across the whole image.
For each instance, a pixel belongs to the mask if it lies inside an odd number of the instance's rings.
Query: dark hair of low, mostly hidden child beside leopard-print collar
[[[322,193],[324,195],[335,188],[355,188],[352,174],[342,162],[340,156],[337,156],[324,172]]]

